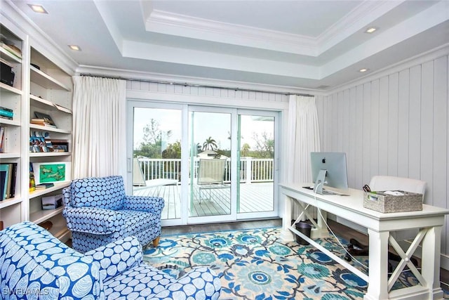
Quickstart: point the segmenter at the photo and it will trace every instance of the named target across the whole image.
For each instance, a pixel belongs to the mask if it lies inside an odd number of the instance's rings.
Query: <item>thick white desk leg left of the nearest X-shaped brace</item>
[[[370,266],[368,292],[365,300],[388,299],[388,237],[389,232],[368,229]]]

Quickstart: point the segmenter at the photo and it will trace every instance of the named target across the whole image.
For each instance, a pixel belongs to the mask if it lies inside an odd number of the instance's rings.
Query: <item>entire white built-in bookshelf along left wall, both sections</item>
[[[72,163],[72,77],[54,63],[53,53],[47,53],[40,44],[34,45],[34,39],[7,18],[1,21],[0,32],[1,62],[15,72],[12,86],[0,82],[0,110],[1,107],[8,112],[13,110],[12,118],[0,118],[0,132],[3,131],[4,136],[0,163],[18,166],[15,196],[0,201],[0,221],[4,227],[25,220],[38,224],[51,221],[53,226],[49,231],[65,241],[69,238],[69,230],[62,217],[62,207],[42,209],[41,198],[61,194],[62,188],[70,183],[71,168],[68,167],[64,180],[40,190],[30,186],[29,170],[33,165],[70,166]],[[8,46],[11,44],[13,47]],[[36,112],[51,117],[55,126],[32,124]],[[30,148],[33,135],[46,136],[45,147],[39,148],[38,152]],[[39,170],[34,170],[36,172]],[[43,176],[36,178],[46,180]]]

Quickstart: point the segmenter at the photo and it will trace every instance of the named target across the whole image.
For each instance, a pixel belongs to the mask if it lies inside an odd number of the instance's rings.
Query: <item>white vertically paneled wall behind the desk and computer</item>
[[[448,86],[446,53],[319,96],[323,151],[347,152],[351,188],[373,175],[418,178],[427,182],[426,204],[449,208]],[[446,216],[445,261],[448,233]]]

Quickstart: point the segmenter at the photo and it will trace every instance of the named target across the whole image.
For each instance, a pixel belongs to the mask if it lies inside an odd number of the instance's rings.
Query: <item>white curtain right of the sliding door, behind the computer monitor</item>
[[[318,112],[315,97],[291,95],[288,102],[288,169],[289,183],[312,181],[310,152],[321,151]],[[316,216],[316,211],[310,211]],[[300,214],[296,205],[293,216]]]

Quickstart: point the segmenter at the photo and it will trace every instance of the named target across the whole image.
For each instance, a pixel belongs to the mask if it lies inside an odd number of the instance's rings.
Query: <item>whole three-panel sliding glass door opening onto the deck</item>
[[[163,197],[163,226],[278,216],[278,112],[130,101],[133,195]]]

